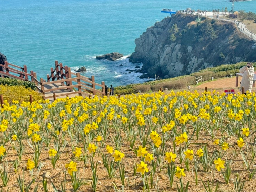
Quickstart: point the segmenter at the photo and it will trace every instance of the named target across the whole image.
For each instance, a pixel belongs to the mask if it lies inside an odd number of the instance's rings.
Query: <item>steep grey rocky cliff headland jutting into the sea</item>
[[[171,78],[207,67],[256,61],[256,44],[235,23],[175,14],[135,40],[130,62],[142,62],[142,78]]]

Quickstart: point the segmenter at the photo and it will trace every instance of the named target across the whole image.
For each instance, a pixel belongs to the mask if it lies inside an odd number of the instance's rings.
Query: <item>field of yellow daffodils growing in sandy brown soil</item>
[[[7,102],[2,191],[253,191],[255,93]]]

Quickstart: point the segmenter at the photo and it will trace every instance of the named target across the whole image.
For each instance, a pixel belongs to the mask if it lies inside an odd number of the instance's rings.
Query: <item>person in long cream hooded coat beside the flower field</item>
[[[239,72],[243,73],[241,87],[244,87],[243,94],[246,95],[246,92],[248,91],[250,93],[253,87],[254,68],[252,62],[248,62],[246,66],[240,68]]]

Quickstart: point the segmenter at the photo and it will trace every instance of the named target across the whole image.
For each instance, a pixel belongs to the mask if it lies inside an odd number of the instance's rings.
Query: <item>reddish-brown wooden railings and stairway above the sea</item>
[[[91,95],[105,95],[105,83],[98,84],[95,82],[94,76],[91,78],[80,75],[80,73],[73,73],[70,67],[58,64],[55,61],[55,68],[51,68],[50,75],[47,74],[47,79],[40,78],[38,81],[36,73],[30,71],[27,73],[27,66],[19,67],[11,63],[5,62],[1,65],[3,71],[0,71],[0,76],[16,78],[23,81],[34,82],[37,89],[42,93],[44,99],[55,100],[56,97],[61,96],[91,96]],[[31,80],[29,80],[29,78]]]

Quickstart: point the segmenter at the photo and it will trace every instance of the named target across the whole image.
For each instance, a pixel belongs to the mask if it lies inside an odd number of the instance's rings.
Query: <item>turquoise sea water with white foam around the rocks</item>
[[[46,78],[54,61],[87,68],[108,86],[144,82],[140,73],[127,73],[137,64],[96,60],[97,55],[119,52],[129,56],[134,40],[156,21],[169,16],[161,9],[232,9],[228,0],[0,0],[0,52],[9,63],[27,65]],[[254,11],[256,0],[235,2],[234,10]],[[120,65],[123,66],[120,66]]]

